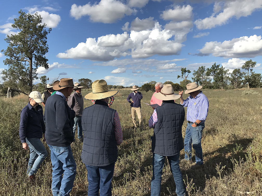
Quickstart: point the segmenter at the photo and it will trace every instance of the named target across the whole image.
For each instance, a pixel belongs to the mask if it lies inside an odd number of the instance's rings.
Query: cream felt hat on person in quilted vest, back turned
[[[164,84],[161,91],[159,93],[155,93],[154,97],[159,100],[168,101],[179,99],[180,95],[174,93],[174,89],[171,84]]]

